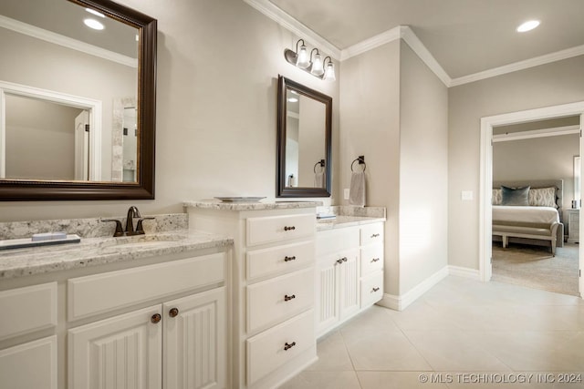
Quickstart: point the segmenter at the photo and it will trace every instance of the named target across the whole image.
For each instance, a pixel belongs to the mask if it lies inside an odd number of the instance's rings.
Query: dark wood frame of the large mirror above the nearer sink
[[[139,30],[138,182],[89,182],[0,179],[0,200],[139,200],[154,199],[157,21],[110,0],[68,0],[98,10]]]

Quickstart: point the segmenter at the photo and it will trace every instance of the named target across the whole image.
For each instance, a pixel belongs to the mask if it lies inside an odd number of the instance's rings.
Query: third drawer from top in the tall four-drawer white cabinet
[[[247,330],[254,332],[314,304],[314,268],[247,286]]]

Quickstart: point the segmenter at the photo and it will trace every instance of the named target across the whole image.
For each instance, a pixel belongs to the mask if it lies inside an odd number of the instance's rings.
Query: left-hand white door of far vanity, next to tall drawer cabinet
[[[337,256],[328,256],[317,263],[316,318],[317,336],[339,322],[339,272]]]

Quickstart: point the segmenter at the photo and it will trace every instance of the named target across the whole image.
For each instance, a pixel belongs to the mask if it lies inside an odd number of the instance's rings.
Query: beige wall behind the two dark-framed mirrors
[[[333,97],[338,139],[339,67],[338,81],[326,83],[288,64],[284,49],[297,37],[243,1],[120,3],[158,19],[156,200],[0,202],[0,220],[119,216],[130,205],[142,214],[182,212],[183,200],[222,195],[274,198],[278,74]],[[334,161],[337,150],[335,139]]]

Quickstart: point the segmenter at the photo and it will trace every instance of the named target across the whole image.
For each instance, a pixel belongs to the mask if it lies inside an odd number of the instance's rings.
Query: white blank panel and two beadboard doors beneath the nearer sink
[[[216,253],[68,280],[70,318],[129,307],[68,330],[68,387],[226,388],[225,265]],[[131,309],[188,290],[203,292]]]

